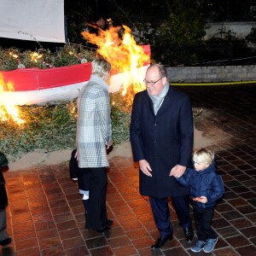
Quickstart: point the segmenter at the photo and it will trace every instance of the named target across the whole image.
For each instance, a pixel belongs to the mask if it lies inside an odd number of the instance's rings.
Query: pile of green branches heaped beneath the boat
[[[119,93],[111,97],[119,106],[123,105]],[[26,120],[17,125],[12,119],[0,121],[0,150],[10,161],[17,160],[22,154],[44,148],[47,152],[75,147],[77,108],[73,102],[58,102],[55,105],[20,106],[20,119]],[[131,108],[121,111],[112,108],[113,143],[129,141]]]

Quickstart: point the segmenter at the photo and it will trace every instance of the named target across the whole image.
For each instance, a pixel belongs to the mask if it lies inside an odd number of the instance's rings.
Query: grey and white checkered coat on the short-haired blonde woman
[[[96,75],[78,99],[77,150],[80,168],[107,167],[106,146],[112,138],[108,84]]]

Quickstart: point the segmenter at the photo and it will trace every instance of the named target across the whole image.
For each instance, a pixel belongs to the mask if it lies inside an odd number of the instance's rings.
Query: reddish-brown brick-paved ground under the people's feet
[[[213,219],[218,243],[210,255],[256,255],[256,84],[183,86],[195,109],[195,127],[215,138],[224,200]],[[137,166],[115,157],[108,171],[108,233],[84,230],[84,207],[67,164],[6,172],[8,230],[13,241],[2,255],[193,255],[174,220],[174,239],[152,253],[158,230],[147,198],[138,193]],[[195,241],[194,241],[195,242]],[[194,244],[192,243],[192,245]],[[1,250],[1,248],[0,248]],[[206,253],[197,253],[204,255]],[[1,255],[1,254],[0,254]]]

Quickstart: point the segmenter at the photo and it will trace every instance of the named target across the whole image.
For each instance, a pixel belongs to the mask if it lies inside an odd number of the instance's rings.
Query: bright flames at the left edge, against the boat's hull
[[[14,85],[11,82],[4,82],[3,74],[0,73],[0,98],[4,99],[3,105],[0,106],[0,120],[8,121],[13,119],[18,125],[24,124],[25,121],[20,119],[20,111],[14,104],[14,99],[8,96],[3,96],[6,92],[14,91]],[[2,101],[1,101],[2,102]]]

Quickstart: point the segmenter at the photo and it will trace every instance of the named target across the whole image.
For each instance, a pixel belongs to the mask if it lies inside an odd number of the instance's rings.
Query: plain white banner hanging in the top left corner
[[[0,0],[0,38],[65,43],[64,0]]]

